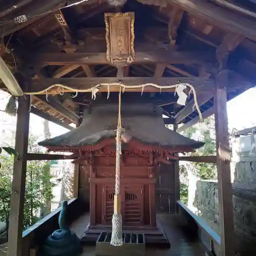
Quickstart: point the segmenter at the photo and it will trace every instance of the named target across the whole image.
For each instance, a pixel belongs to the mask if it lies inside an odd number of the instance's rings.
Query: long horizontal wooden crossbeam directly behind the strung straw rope
[[[206,81],[207,84],[211,84],[211,87],[207,87],[208,90],[214,90],[214,81],[208,78],[195,78],[191,79],[189,77],[162,77],[162,78],[153,78],[153,77],[122,77],[121,79],[117,77],[95,77],[95,78],[44,78],[44,79],[33,79],[32,82],[28,86],[29,92],[36,92],[42,89],[46,89],[52,84],[65,84],[66,86],[69,86],[74,89],[90,89],[93,86],[96,86],[97,84],[103,84],[103,83],[121,83],[125,84],[126,86],[135,86],[134,88],[125,89],[125,91],[131,91],[131,92],[141,92],[141,88],[136,88],[138,84],[145,84],[145,83],[156,83],[159,86],[167,86],[169,84],[177,84],[178,81],[182,83],[190,83],[195,88],[202,86],[203,83]],[[119,86],[111,86],[110,87],[112,92],[119,92]],[[23,89],[24,92],[26,92],[25,89]],[[55,90],[55,89],[52,89]],[[162,89],[165,92],[174,92],[175,88],[170,89]],[[204,87],[200,87],[200,90],[203,91]],[[70,90],[64,90],[65,92],[68,92]],[[108,88],[106,86],[101,86],[100,92],[107,92]],[[160,89],[157,89],[155,87],[147,86],[144,88],[144,92],[159,92]],[[57,93],[57,91],[52,91],[52,93]],[[51,94],[51,91],[48,91],[48,94]],[[50,97],[49,97],[50,98]],[[48,102],[48,104],[51,104],[51,100]],[[56,104],[55,104],[56,105]],[[55,108],[55,107],[54,107]],[[57,108],[55,108],[57,110]],[[58,108],[59,109],[59,108]],[[58,110],[57,110],[58,111]],[[69,117],[70,119],[70,117]]]

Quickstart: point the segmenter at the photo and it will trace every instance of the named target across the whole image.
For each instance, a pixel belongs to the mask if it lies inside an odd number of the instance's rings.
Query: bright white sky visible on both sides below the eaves
[[[1,110],[5,109],[5,105],[8,101],[8,94],[2,92],[0,94],[0,130],[4,125],[3,119],[8,119],[8,123],[15,123],[15,118],[7,117]],[[228,114],[228,126],[229,129],[236,128],[242,130],[256,125],[256,88],[251,88],[238,97],[230,100],[227,103]],[[67,129],[50,122],[51,136],[57,136],[68,132]],[[30,118],[30,131],[39,137],[39,140],[43,138],[43,126],[42,119],[34,114],[31,114]]]

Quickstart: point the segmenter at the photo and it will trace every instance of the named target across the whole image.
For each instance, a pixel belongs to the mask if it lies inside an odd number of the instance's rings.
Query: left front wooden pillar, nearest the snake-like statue
[[[22,255],[23,210],[27,169],[29,137],[30,96],[18,99],[15,150],[19,159],[14,159],[8,236],[8,255]]]

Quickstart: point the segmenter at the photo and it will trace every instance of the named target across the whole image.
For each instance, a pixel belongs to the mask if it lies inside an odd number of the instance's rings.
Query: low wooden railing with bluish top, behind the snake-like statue
[[[31,250],[38,248],[40,243],[44,242],[49,234],[59,228],[58,217],[60,209],[59,207],[54,210],[23,232],[23,256],[32,255],[33,252]],[[88,211],[88,209],[88,205],[81,202],[79,199],[71,199],[68,202],[67,223],[72,223],[83,212]]]

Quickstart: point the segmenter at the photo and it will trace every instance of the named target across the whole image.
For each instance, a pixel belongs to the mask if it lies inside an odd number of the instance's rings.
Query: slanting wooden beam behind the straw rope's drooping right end
[[[199,93],[197,94],[197,103],[198,106],[200,107],[203,105],[205,102],[207,102],[209,99],[214,97],[213,93]],[[186,106],[184,106],[183,109],[181,109],[175,116],[175,123],[181,123],[183,119],[185,119],[188,115],[194,112],[195,108],[195,101],[194,99],[190,100]]]

